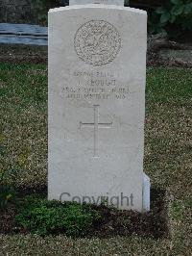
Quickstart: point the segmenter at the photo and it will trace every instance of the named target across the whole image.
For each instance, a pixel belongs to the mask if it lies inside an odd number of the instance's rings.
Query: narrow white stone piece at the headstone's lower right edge
[[[151,182],[150,178],[144,174],[143,176],[143,211],[150,211],[150,191],[151,191]]]

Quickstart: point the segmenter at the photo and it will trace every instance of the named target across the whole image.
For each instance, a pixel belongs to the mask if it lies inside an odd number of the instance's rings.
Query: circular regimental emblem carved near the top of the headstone
[[[84,23],[75,35],[75,50],[86,64],[101,66],[112,62],[121,48],[117,29],[104,20]]]

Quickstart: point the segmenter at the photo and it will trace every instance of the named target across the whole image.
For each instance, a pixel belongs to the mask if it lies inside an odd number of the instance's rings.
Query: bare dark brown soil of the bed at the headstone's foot
[[[19,198],[19,200],[21,199]],[[86,234],[88,238],[136,235],[159,239],[166,238],[169,235],[165,192],[163,191],[152,190],[152,210],[149,213],[117,211],[105,206],[93,206],[93,208],[97,209],[103,218],[102,221],[95,223],[92,229],[89,230]],[[16,214],[17,207],[15,204],[10,204],[7,210],[0,212],[0,234],[29,233],[15,225],[14,217]]]

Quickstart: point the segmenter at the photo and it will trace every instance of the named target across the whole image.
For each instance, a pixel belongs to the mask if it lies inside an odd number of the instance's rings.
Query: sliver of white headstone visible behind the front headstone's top
[[[69,0],[69,5],[104,4],[124,6],[124,0]]]

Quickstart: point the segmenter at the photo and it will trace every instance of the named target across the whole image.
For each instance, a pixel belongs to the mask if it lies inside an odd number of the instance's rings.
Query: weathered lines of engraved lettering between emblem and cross
[[[60,86],[62,97],[69,100],[126,100],[131,86],[120,80],[119,73],[76,70],[71,82]]]

